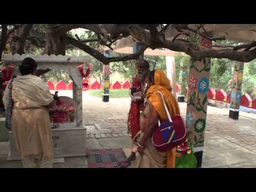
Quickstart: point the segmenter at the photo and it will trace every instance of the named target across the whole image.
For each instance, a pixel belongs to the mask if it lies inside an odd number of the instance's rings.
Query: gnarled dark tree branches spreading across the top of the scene
[[[86,29],[88,33],[80,37],[71,35],[70,30],[77,28]],[[172,40],[165,38],[169,28],[177,31],[177,35]],[[31,47],[39,47],[43,50],[42,54],[65,55],[67,49],[77,47],[105,65],[110,62],[137,59],[147,47],[153,50],[163,48],[185,52],[197,60],[208,57],[249,62],[256,58],[255,42],[227,44],[227,42],[222,42],[225,41],[225,36],[209,35],[203,24],[197,25],[196,28],[191,28],[188,24],[2,24],[0,30],[1,53],[5,50],[6,44],[9,44],[13,54],[26,53],[33,49]],[[118,39],[127,36],[132,36],[138,42],[143,43],[139,52],[107,58],[100,51],[104,47],[112,49]],[[213,46],[219,49],[202,49],[195,44],[195,36],[215,41]],[[232,49],[227,49],[227,47]]]

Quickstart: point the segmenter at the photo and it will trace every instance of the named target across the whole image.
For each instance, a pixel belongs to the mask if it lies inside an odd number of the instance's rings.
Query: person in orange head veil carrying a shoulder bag
[[[156,126],[158,126],[158,119],[161,122],[167,120],[161,95],[156,91],[162,92],[171,117],[180,114],[179,105],[171,93],[170,81],[163,71],[158,69],[150,71],[147,77],[147,86],[146,108],[140,117],[142,133],[138,142],[138,152],[140,155],[137,159],[137,167],[174,168],[176,148],[167,152],[159,152],[151,141],[152,134]]]

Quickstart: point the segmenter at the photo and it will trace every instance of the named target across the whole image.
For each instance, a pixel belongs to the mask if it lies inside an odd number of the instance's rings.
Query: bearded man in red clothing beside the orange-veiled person
[[[130,87],[131,107],[128,116],[128,133],[132,140],[132,153],[122,162],[119,162],[120,167],[127,167],[131,161],[136,159],[137,146],[133,144],[137,133],[140,131],[139,116],[140,111],[144,110],[144,98],[146,93],[145,80],[149,72],[149,62],[146,60],[139,60],[136,63],[138,74],[132,78],[132,85]],[[142,92],[141,99],[134,97],[133,93]]]

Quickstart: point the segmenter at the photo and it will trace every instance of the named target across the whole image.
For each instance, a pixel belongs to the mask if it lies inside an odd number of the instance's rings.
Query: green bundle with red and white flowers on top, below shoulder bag
[[[197,160],[193,147],[188,143],[188,139],[177,147],[175,168],[196,168]]]

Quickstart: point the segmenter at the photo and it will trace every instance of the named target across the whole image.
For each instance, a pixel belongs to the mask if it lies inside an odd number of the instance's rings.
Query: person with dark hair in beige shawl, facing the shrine
[[[34,75],[36,68],[34,59],[22,61],[19,67],[21,76],[9,82],[3,102],[8,111],[10,100],[13,101],[10,124],[15,149],[21,155],[23,166],[52,167],[53,142],[47,107],[53,104],[54,99],[47,84]]]

